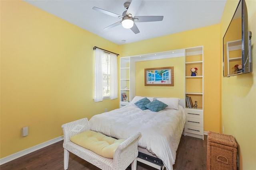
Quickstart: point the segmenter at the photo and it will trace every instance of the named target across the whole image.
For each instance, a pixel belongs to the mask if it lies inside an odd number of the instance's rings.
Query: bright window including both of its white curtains
[[[103,99],[116,99],[118,96],[116,55],[100,49],[95,52],[95,88],[94,102]]]

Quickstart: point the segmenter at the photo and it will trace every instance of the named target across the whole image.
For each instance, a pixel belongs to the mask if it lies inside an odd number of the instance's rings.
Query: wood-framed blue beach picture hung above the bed
[[[173,67],[145,68],[145,86],[174,86]]]

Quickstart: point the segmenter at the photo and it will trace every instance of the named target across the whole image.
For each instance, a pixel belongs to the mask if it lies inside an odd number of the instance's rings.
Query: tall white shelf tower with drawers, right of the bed
[[[185,97],[197,101],[197,108],[185,105],[186,124],[184,135],[204,140],[204,53],[203,47],[185,49]],[[198,68],[197,75],[191,76],[191,68]]]

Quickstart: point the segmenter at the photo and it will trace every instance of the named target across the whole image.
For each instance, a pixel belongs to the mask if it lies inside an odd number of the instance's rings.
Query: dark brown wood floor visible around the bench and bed
[[[0,170],[63,170],[63,141],[0,166]],[[206,170],[207,141],[182,135],[174,170]],[[68,170],[100,170],[70,153]],[[138,162],[137,170],[156,170]]]

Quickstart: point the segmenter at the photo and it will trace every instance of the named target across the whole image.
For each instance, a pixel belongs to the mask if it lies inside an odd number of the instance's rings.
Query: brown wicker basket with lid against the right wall
[[[236,156],[233,136],[208,131],[207,170],[236,170]]]

